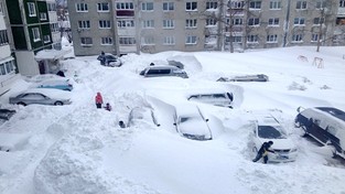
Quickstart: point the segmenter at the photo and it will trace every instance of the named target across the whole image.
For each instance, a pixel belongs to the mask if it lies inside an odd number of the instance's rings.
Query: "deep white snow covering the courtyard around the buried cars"
[[[74,79],[72,105],[9,105],[9,95],[30,87],[24,78],[0,97],[2,108],[17,110],[0,126],[0,146],[10,148],[0,151],[0,193],[345,194],[344,160],[331,158],[327,148],[293,127],[299,106],[345,110],[344,51],[129,54],[119,68],[99,65],[97,56],[63,61],[65,75]],[[323,68],[313,65],[314,57],[323,58]],[[190,78],[138,75],[151,62],[170,58],[182,62]],[[270,80],[216,82],[247,74],[266,74]],[[234,109],[197,104],[214,139],[183,138],[173,126],[173,107],[188,103],[188,91],[207,88],[234,93]],[[97,91],[112,111],[96,109]],[[120,128],[132,109],[134,119]],[[257,112],[273,115],[285,128],[299,149],[295,162],[251,162],[249,137]]]

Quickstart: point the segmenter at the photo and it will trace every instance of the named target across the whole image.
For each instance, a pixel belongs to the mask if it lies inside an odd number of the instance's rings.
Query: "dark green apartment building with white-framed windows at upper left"
[[[11,48],[19,73],[36,75],[48,73],[57,61],[37,60],[42,50],[61,47],[61,37],[54,0],[6,0],[10,25]]]

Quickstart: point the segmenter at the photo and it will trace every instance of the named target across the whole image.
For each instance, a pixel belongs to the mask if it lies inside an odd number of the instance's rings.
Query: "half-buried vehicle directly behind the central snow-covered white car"
[[[214,106],[233,108],[234,95],[227,91],[196,91],[187,96],[187,100],[212,104]]]

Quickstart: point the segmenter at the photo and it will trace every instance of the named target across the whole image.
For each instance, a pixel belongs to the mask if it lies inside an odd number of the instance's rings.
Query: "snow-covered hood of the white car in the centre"
[[[179,126],[180,132],[196,136],[209,136],[209,129],[204,120],[190,120]]]

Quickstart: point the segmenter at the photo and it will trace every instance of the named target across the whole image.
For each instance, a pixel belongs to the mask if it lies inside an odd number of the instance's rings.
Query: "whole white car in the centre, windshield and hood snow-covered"
[[[212,140],[212,132],[200,108],[194,104],[175,106],[174,126],[182,136],[193,140]]]

